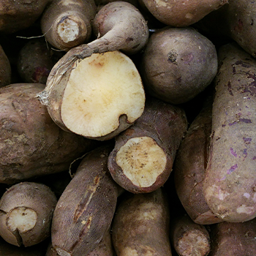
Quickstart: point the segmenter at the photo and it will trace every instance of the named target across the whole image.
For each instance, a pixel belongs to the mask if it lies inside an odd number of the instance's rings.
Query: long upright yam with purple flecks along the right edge
[[[236,43],[219,48],[211,145],[203,194],[227,222],[255,218],[256,61]]]

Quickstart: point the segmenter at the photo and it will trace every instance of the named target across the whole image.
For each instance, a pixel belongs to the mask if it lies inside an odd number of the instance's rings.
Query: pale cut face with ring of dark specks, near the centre
[[[119,165],[132,184],[150,187],[165,170],[167,157],[155,140],[149,137],[132,138],[116,154]]]

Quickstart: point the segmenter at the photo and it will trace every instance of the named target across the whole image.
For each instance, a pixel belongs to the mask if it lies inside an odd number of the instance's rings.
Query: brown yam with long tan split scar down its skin
[[[59,198],[51,238],[61,256],[88,255],[110,228],[122,190],[108,171],[112,148],[110,143],[86,154]]]

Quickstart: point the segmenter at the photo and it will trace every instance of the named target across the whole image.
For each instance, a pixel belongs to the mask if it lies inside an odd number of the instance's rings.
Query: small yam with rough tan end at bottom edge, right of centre
[[[187,214],[171,220],[170,241],[180,256],[206,256],[211,248],[206,227],[193,222]]]

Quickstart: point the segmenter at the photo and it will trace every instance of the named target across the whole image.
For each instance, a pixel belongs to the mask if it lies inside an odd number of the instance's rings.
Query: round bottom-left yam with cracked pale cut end
[[[50,236],[56,195],[44,184],[21,182],[0,200],[0,235],[10,244],[32,246]]]

